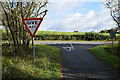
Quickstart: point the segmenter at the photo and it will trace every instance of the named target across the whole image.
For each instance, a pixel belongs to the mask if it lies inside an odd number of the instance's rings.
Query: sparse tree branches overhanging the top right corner
[[[104,0],[104,4],[110,9],[110,15],[120,28],[120,1],[119,0]]]

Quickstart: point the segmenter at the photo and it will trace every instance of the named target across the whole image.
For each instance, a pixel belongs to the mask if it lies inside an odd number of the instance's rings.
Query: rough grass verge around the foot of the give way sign
[[[14,53],[6,44],[2,46],[3,78],[60,78],[60,51],[56,47],[35,44],[33,63],[32,47]]]

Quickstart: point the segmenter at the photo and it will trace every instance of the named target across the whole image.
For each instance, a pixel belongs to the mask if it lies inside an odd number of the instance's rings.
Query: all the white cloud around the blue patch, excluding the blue
[[[87,14],[81,14],[74,11],[81,8],[85,3],[81,2],[51,2],[48,5],[48,14],[43,20],[39,30],[52,31],[100,31],[102,29],[110,29],[115,27],[109,10],[103,9],[101,12],[89,10]]]

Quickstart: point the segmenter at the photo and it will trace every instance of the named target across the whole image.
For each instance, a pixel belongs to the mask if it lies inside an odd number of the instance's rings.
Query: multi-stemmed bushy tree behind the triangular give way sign
[[[3,1],[3,0],[2,0]],[[13,42],[15,51],[19,49],[19,46],[28,47],[30,43],[30,35],[25,29],[22,19],[26,18],[44,18],[47,14],[48,2],[2,2],[2,23],[7,31],[8,41]],[[10,36],[12,38],[10,39]],[[21,42],[22,41],[22,42]]]

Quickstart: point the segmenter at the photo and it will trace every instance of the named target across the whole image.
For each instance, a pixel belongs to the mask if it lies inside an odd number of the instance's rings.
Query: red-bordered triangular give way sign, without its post
[[[33,19],[22,19],[23,24],[30,33],[31,37],[34,37],[36,31],[38,30],[43,18],[33,18]]]

